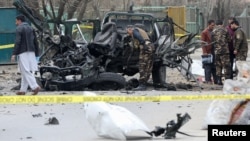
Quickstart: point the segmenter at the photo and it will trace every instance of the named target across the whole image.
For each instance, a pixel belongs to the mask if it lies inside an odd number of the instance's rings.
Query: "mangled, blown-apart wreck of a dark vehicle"
[[[166,67],[179,68],[187,79],[196,81],[190,72],[192,59],[189,55],[205,43],[194,40],[196,34],[192,33],[175,40],[174,33],[162,30],[167,25],[173,28],[166,18],[129,11],[109,12],[102,22],[56,21],[62,34],[55,40],[44,32],[44,22],[37,20],[22,0],[16,0],[14,5],[36,26],[43,35],[42,42],[47,45],[39,59],[40,81],[45,90],[124,88],[125,76],[139,72],[139,50],[133,47],[126,33],[127,25],[143,28],[156,47],[152,71],[154,86],[166,87]],[[82,23],[90,23],[93,29],[91,41],[85,39],[79,26]]]

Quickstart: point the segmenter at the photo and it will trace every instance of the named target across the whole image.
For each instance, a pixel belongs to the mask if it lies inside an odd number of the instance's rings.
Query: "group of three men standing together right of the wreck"
[[[239,22],[231,17],[224,26],[222,20],[209,20],[201,40],[208,43],[202,47],[203,56],[212,57],[211,62],[203,62],[205,83],[223,85],[222,78],[233,79],[235,62],[246,61],[248,52],[247,37]]]

